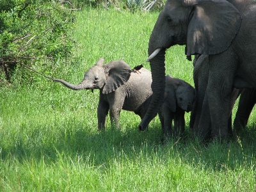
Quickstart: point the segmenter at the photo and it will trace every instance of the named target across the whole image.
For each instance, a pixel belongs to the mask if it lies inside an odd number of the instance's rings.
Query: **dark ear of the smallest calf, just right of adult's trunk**
[[[165,93],[164,93],[164,105],[168,106],[170,110],[175,113],[177,107],[177,98],[175,88],[177,88],[179,82],[175,81],[172,76],[166,76],[165,78]]]

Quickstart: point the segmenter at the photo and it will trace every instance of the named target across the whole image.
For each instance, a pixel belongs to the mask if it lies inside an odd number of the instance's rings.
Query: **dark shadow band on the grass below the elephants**
[[[207,146],[200,145],[196,138],[192,138],[188,127],[178,140],[170,138],[163,144],[161,138],[160,125],[144,132],[139,132],[137,127],[127,127],[124,131],[110,127],[105,131],[95,131],[94,128],[84,129],[82,123],[52,131],[51,126],[45,125],[20,136],[13,145],[0,148],[0,157],[3,161],[15,158],[20,162],[30,158],[41,161],[44,158],[45,163],[55,163],[63,155],[70,159],[79,157],[92,166],[108,164],[111,159],[118,158],[134,161],[138,160],[138,156],[143,161],[156,157],[163,159],[163,162],[178,158],[183,163],[203,165],[214,170],[234,169],[256,162],[255,126],[244,130],[239,139],[228,143],[212,141]]]

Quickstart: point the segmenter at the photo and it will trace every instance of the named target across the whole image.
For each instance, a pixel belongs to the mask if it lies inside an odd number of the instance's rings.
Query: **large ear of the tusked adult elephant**
[[[226,0],[184,0],[183,5],[193,6],[187,57],[225,51],[241,26],[242,17],[236,7]]]

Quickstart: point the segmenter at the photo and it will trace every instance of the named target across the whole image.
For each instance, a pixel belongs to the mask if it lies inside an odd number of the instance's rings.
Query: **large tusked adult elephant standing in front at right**
[[[186,45],[189,60],[209,55],[211,137],[227,138],[232,87],[256,88],[255,20],[253,0],[168,0],[148,44],[153,95],[138,129],[147,127],[163,103],[165,51],[179,44]]]

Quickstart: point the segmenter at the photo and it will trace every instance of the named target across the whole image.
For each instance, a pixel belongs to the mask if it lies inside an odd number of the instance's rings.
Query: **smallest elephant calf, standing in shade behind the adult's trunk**
[[[180,136],[185,131],[185,111],[192,110],[195,89],[179,78],[166,76],[164,102],[159,112],[164,136]],[[174,126],[172,128],[172,122]]]

